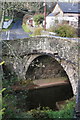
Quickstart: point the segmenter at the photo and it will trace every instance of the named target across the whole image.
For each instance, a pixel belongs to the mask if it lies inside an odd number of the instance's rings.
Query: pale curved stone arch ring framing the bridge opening
[[[25,62],[25,74],[26,71],[28,70],[30,64],[32,63],[33,60],[35,60],[37,57],[42,56],[42,55],[47,55],[47,56],[51,56],[53,57],[64,69],[64,71],[66,72],[68,78],[69,78],[69,82],[71,83],[72,86],[72,90],[73,90],[73,94],[76,95],[76,88],[77,88],[77,80],[75,80],[77,74],[76,74],[76,70],[75,70],[75,65],[69,63],[66,60],[62,60],[57,53],[53,53],[53,52],[41,52],[38,54],[34,54],[31,55],[30,58]],[[26,58],[26,57],[25,57]]]

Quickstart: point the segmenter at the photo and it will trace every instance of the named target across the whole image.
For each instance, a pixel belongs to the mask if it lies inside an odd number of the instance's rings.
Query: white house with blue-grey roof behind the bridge
[[[78,27],[78,16],[80,16],[80,3],[58,2],[53,11],[46,17],[46,28],[57,24],[68,24]]]

